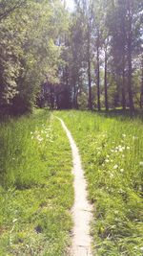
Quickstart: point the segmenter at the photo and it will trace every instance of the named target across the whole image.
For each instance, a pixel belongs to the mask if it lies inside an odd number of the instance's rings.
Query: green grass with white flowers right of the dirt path
[[[128,115],[61,111],[80,149],[93,203],[94,255],[143,255],[143,123]]]

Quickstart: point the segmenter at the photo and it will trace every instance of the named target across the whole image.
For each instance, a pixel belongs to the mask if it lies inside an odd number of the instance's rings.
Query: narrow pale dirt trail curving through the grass
[[[67,133],[71,148],[74,175],[74,205],[72,218],[74,222],[72,235],[71,256],[92,256],[92,237],[90,235],[90,223],[92,221],[92,205],[87,199],[87,183],[81,165],[81,159],[70,130],[63,120],[57,117]]]

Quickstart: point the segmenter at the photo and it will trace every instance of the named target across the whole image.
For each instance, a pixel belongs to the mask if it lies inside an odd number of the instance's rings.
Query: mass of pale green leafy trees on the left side
[[[68,26],[59,1],[24,2],[1,4],[2,12],[12,12],[0,20],[0,110],[14,114],[32,109],[45,80],[59,82],[57,41]]]

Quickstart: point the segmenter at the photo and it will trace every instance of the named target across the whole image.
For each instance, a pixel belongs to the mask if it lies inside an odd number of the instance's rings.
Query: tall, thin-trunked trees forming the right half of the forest
[[[75,1],[65,72],[75,107],[142,107],[142,10],[140,0]]]

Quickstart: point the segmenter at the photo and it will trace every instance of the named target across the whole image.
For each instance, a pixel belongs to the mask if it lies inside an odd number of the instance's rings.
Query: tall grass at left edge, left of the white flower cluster
[[[0,184],[3,187],[22,189],[39,183],[40,170],[44,171],[46,166],[41,161],[38,140],[32,140],[31,133],[40,130],[43,122],[50,125],[50,114],[37,111],[31,117],[0,124]]]

